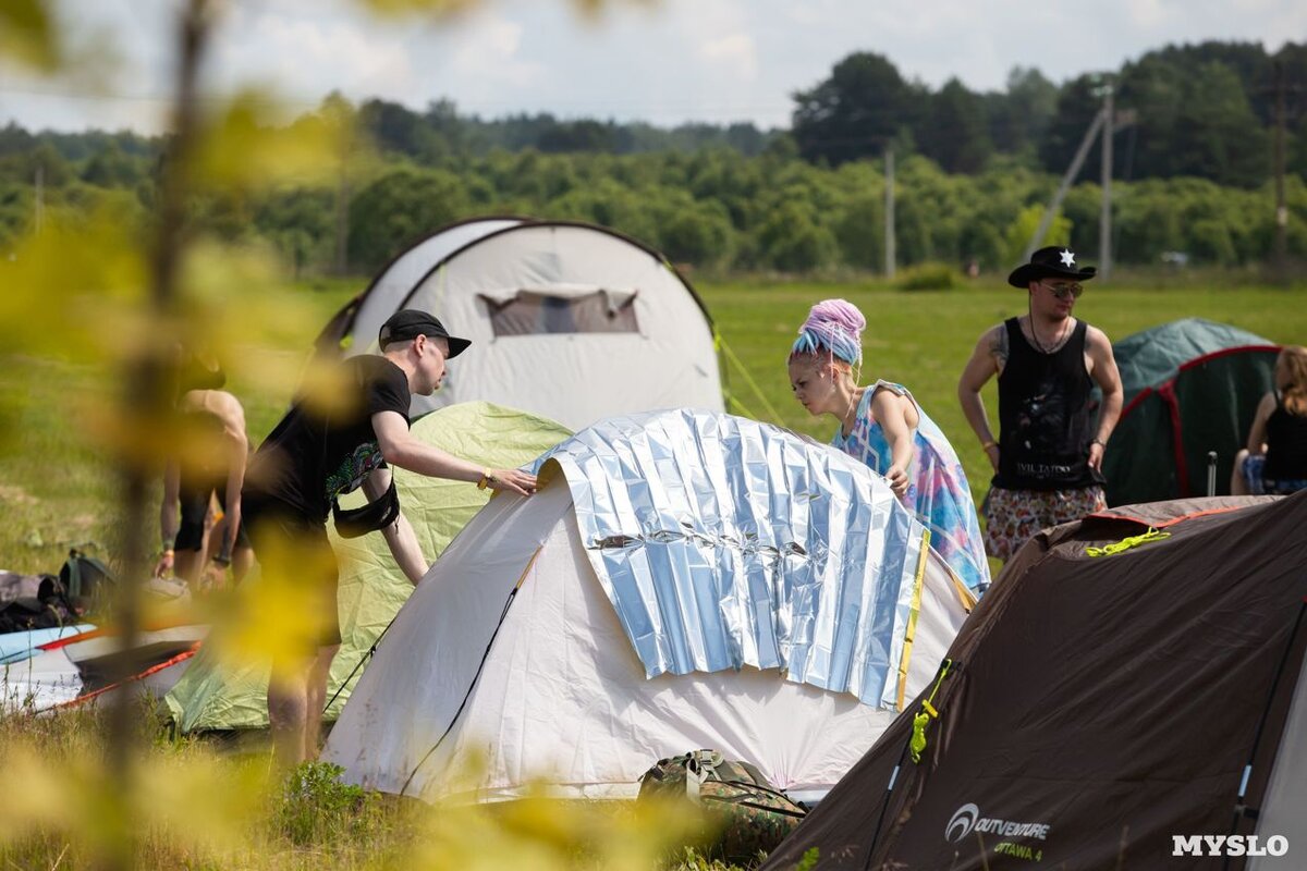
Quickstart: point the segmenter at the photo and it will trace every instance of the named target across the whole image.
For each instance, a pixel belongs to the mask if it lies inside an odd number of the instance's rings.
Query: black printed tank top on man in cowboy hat
[[[1044,354],[1033,347],[1010,317],[1008,362],[999,376],[999,474],[1008,490],[1070,490],[1102,483],[1089,467],[1089,440],[1097,404],[1085,368],[1087,325],[1077,321],[1070,338]]]

